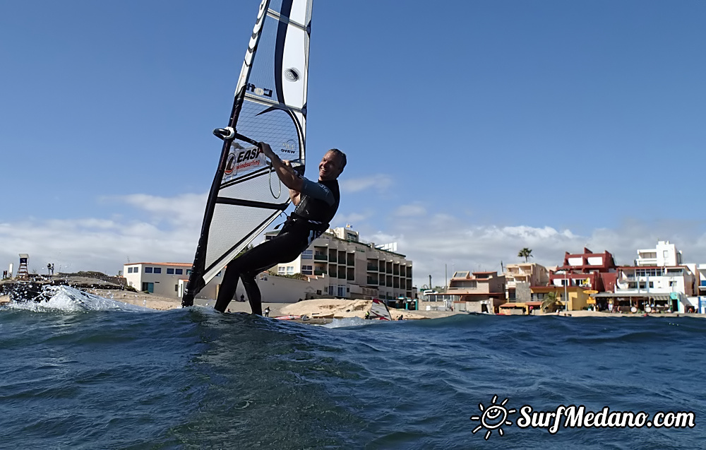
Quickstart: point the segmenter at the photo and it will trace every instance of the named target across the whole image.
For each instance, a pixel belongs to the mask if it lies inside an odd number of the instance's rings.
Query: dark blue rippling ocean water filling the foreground
[[[705,345],[690,317],[312,326],[60,288],[0,309],[0,447],[697,449]],[[695,426],[551,434],[517,426],[523,405],[683,411]]]

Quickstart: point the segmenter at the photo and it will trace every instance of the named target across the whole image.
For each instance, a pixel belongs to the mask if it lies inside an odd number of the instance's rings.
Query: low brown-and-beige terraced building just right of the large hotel
[[[497,272],[455,272],[443,293],[429,293],[419,301],[419,309],[498,314],[505,303],[505,276]],[[443,306],[442,306],[443,305]]]

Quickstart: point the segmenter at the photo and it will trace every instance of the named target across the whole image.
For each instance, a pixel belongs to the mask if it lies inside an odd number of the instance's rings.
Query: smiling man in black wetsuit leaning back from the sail
[[[289,199],[296,208],[277,236],[228,264],[214,306],[220,312],[233,299],[240,278],[253,314],[262,315],[262,296],[255,277],[265,269],[297,259],[314,239],[328,230],[340,201],[337,178],[346,165],[346,155],[341,150],[332,148],[323,155],[318,164],[318,182],[312,182],[297,174],[289,161],[280,160],[268,144],[261,142],[260,147],[270,158],[277,177],[289,188]]]

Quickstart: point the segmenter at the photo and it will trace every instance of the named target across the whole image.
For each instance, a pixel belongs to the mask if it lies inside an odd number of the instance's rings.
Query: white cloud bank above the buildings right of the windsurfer
[[[393,221],[384,232],[361,235],[367,242],[397,242],[397,251],[413,262],[414,284],[444,285],[445,270],[501,271],[503,264],[524,259],[517,252],[532,249],[530,261],[544,266],[563,262],[566,251],[580,253],[584,247],[596,253],[610,251],[620,265],[633,264],[637,249],[654,248],[658,240],[670,240],[681,249],[686,262],[706,262],[706,234],[695,227],[684,232],[683,223],[638,223],[630,221],[615,230],[598,228],[588,235],[549,225],[474,225],[448,214],[430,214],[417,220]],[[670,231],[671,230],[671,231]],[[677,231],[678,230],[678,231]],[[446,267],[446,269],[445,269]]]

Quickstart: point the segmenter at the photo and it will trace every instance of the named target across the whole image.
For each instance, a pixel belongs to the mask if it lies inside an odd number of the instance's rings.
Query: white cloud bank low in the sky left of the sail
[[[30,219],[0,225],[0,264],[18,265],[30,255],[29,268],[42,273],[47,263],[59,271],[116,273],[130,261],[191,261],[203,220],[205,195],[172,198],[147,195],[108,197],[150,213],[150,221],[125,219]]]

